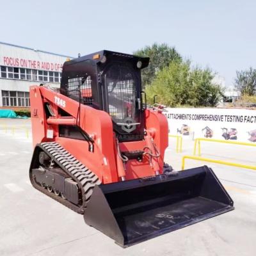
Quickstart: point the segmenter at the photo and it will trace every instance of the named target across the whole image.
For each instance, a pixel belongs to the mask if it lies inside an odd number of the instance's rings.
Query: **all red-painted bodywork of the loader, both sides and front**
[[[77,123],[79,103],[76,100],[44,86],[31,86],[30,101],[33,146],[35,147],[36,144],[44,141],[58,142],[81,163],[90,168],[103,184],[120,181],[124,172],[127,180],[156,175],[156,171],[163,172],[164,150],[168,146],[168,123],[161,111],[145,110],[145,129],[147,132],[145,140],[119,144],[121,152],[143,150],[146,146],[154,150],[152,146],[153,139],[161,156],[152,157],[152,164],[150,164],[147,154],[143,156],[142,161],[129,159],[124,170],[122,161],[120,163],[120,159],[118,159],[115,133],[108,113],[81,104],[80,127],[94,141],[94,152],[90,152],[87,141],[59,136],[58,125],[75,125]],[[45,102],[49,103],[56,117],[47,118],[44,108]],[[70,116],[58,115],[58,108],[63,109]],[[47,130],[53,130],[53,138],[47,138]]]

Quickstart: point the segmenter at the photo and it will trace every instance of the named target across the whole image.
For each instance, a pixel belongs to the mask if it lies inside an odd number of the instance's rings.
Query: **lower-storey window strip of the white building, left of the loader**
[[[2,91],[3,106],[29,107],[29,92]]]

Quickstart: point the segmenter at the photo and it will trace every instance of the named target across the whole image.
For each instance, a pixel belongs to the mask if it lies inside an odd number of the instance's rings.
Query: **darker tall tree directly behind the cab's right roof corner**
[[[152,83],[157,72],[164,67],[168,67],[171,61],[182,60],[175,47],[170,47],[167,44],[155,43],[152,46],[146,46],[143,49],[135,51],[134,55],[150,58],[148,67],[141,70],[143,86]]]

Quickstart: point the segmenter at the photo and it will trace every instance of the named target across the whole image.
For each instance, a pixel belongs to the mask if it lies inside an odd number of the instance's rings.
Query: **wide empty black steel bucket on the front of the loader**
[[[85,222],[126,247],[233,210],[211,168],[96,186]]]

